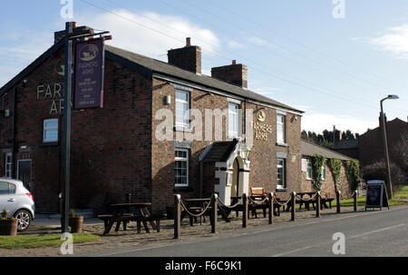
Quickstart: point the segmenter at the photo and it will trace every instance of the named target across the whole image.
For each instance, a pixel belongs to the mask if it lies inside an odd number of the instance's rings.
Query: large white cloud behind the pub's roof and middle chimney
[[[191,44],[199,45],[203,52],[215,52],[219,48],[216,34],[180,16],[156,13],[138,15],[126,10],[115,10],[112,13],[116,15],[102,13],[75,19],[78,25],[109,30],[113,38],[109,44],[163,61],[167,61],[168,50],[185,45],[186,37],[191,37]]]

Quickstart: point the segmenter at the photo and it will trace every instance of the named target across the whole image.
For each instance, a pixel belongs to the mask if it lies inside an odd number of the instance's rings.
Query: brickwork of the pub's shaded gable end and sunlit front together
[[[0,92],[0,104],[13,110],[13,91],[16,91],[15,113],[5,117],[0,113],[0,177],[5,175],[5,152],[14,152],[14,175],[17,162],[32,160],[32,191],[36,209],[40,212],[58,211],[58,193],[62,182],[63,136],[63,76],[58,74],[63,64],[63,47],[47,54],[17,83],[5,86]],[[189,86],[189,108],[228,109],[228,94],[209,93],[206,89]],[[3,88],[5,89],[5,88]],[[175,83],[155,76],[150,68],[106,55],[104,72],[104,104],[102,109],[73,111],[71,141],[71,203],[73,208],[101,209],[107,201],[125,201],[131,192],[132,201],[151,201],[153,211],[170,206],[174,193],[183,198],[199,196],[199,156],[211,141],[159,141],[155,131],[162,122],[156,118],[161,109],[175,113]],[[170,104],[165,103],[170,96]],[[237,97],[237,96],[235,96]],[[277,154],[284,155],[286,187],[284,192],[300,188],[300,114],[265,103],[247,102],[242,98],[240,108],[265,112],[268,125],[264,139],[256,138],[249,154],[249,186],[261,186],[267,192],[277,191]],[[286,112],[286,144],[277,145],[277,110]],[[61,112],[60,112],[61,111]],[[296,116],[296,120],[293,119]],[[15,118],[15,148],[12,146],[12,125]],[[59,142],[44,143],[44,119],[58,118]],[[173,118],[174,119],[174,118]],[[173,120],[174,121],[174,120]],[[203,122],[204,123],[204,122]],[[241,121],[241,130],[244,128]],[[227,121],[223,118],[223,141]],[[204,136],[203,129],[203,136]],[[248,132],[248,129],[247,129]],[[267,140],[265,140],[265,137]],[[189,149],[189,187],[174,185],[175,148]],[[203,190],[213,190],[211,179],[214,167],[205,167]],[[327,177],[328,178],[328,177]],[[212,182],[212,183],[211,183]]]

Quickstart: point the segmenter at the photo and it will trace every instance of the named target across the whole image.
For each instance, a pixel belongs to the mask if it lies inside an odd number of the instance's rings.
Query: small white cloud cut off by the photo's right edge
[[[388,34],[369,41],[379,50],[391,52],[399,58],[408,58],[408,24],[389,28]]]

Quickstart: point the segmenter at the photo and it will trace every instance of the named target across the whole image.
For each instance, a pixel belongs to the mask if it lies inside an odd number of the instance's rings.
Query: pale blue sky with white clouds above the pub
[[[248,65],[248,89],[304,111],[302,130],[365,133],[388,94],[400,97],[384,101],[388,120],[407,121],[406,0],[2,1],[0,86],[66,21],[109,30],[108,44],[164,62],[191,37],[203,74]]]

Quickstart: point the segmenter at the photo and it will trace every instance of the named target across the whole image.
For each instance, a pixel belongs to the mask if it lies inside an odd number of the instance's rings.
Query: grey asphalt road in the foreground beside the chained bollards
[[[333,247],[345,236],[345,254]],[[336,246],[337,247],[337,246]],[[341,251],[341,250],[340,250]],[[222,232],[214,238],[178,241],[170,245],[105,250],[76,256],[112,257],[285,257],[285,256],[408,256],[408,207],[363,211],[307,221],[266,225],[240,231],[235,236]]]

